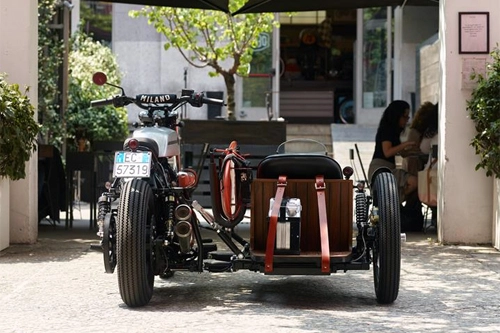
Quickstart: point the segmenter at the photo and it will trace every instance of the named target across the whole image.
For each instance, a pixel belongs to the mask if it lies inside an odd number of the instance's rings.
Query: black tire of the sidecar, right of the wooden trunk
[[[401,223],[396,179],[391,172],[375,177],[374,205],[378,207],[373,248],[373,279],[377,302],[390,304],[399,292],[401,271]]]

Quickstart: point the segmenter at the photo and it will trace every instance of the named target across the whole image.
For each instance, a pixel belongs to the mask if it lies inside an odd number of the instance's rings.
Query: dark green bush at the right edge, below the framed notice
[[[491,57],[486,77],[472,76],[477,86],[467,101],[467,111],[477,131],[471,141],[480,158],[476,170],[482,168],[487,176],[500,178],[500,50],[495,48]]]

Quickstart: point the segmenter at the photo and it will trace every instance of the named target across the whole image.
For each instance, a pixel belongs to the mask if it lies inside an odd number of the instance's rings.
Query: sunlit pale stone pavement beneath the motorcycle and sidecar
[[[78,213],[76,214],[78,216]],[[127,308],[104,273],[86,220],[42,224],[39,242],[0,252],[0,332],[495,332],[500,253],[440,246],[414,233],[402,247],[399,297],[375,300],[370,271],[329,277],[177,272],[149,305]],[[242,225],[243,235],[248,231]]]

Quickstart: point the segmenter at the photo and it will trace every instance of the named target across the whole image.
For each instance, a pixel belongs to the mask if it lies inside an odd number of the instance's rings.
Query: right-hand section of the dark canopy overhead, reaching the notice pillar
[[[384,6],[434,6],[438,0],[249,0],[233,15],[242,13],[299,12]]]

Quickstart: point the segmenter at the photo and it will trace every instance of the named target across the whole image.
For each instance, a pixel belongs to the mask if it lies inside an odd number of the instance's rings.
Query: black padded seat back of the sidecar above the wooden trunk
[[[257,178],[314,179],[322,175],[325,179],[342,179],[340,165],[323,154],[274,154],[265,157],[257,166]]]

